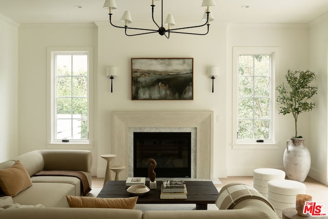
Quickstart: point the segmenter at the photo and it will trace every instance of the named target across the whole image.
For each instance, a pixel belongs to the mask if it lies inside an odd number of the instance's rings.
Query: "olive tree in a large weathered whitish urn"
[[[290,180],[303,182],[310,171],[311,156],[308,148],[304,145],[304,138],[298,136],[297,120],[300,113],[314,109],[315,103],[310,102],[310,99],[317,94],[318,86],[311,85],[316,75],[310,70],[288,70],[285,78],[287,85],[282,84],[276,88],[278,91],[277,102],[282,105],[279,107],[279,113],[293,115],[295,136],[287,141],[283,153],[283,166]]]

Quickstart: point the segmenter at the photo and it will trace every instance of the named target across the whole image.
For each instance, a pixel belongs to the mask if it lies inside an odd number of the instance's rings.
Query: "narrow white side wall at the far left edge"
[[[0,14],[0,162],[18,154],[18,25]]]

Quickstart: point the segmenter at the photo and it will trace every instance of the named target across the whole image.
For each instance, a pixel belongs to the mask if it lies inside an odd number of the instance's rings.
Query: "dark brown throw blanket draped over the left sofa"
[[[77,177],[81,181],[81,188],[83,189],[83,196],[86,196],[91,191],[91,188],[90,188],[89,182],[88,182],[88,178],[82,172],[72,171],[72,170],[43,170],[43,171],[40,171],[40,172],[34,174],[34,176],[46,176],[46,175]]]

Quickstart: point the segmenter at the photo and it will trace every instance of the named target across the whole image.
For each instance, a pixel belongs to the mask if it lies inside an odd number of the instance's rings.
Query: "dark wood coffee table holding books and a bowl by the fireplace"
[[[219,194],[211,181],[185,181],[188,191],[186,200],[160,199],[162,182],[156,183],[157,188],[139,196],[137,204],[196,204],[197,210],[207,210],[207,204],[215,204]],[[149,187],[149,181],[146,181],[146,186]],[[131,197],[131,194],[127,192],[125,181],[107,181],[97,197]]]

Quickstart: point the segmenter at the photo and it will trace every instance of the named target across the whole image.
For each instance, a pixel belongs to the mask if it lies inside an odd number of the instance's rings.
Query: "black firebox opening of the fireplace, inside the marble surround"
[[[191,132],[133,132],[134,176],[148,176],[149,158],[156,177],[191,177]]]

